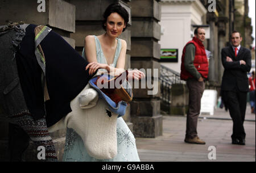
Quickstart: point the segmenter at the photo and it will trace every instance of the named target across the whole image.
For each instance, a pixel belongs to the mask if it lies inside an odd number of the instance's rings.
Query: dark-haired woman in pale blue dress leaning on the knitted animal
[[[117,37],[125,31],[129,22],[128,12],[118,3],[110,5],[104,12],[100,36],[86,36],[83,57],[89,62],[85,70],[93,74],[104,69],[118,76],[125,68],[126,41]],[[128,78],[142,79],[144,73],[129,71]],[[122,117],[117,119],[117,155],[113,159],[96,159],[87,153],[81,137],[73,130],[67,130],[63,161],[140,161],[135,138]]]

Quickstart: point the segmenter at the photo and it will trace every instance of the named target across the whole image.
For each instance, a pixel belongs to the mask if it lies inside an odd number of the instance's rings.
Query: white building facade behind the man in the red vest
[[[184,45],[192,40],[193,29],[195,29],[193,26],[206,24],[207,9],[199,0],[163,0],[160,3],[162,6],[161,49],[178,49],[176,62],[160,62],[160,64],[180,73]],[[210,37],[210,34],[207,32],[206,36]]]

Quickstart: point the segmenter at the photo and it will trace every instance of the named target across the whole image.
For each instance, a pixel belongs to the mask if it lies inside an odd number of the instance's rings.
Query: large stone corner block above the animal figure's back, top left
[[[74,5],[61,0],[48,0],[46,1],[45,12],[38,11],[39,5],[40,3],[34,0],[23,1],[22,3],[19,0],[0,1],[0,25],[7,24],[6,21],[23,21],[75,32],[76,7]]]

